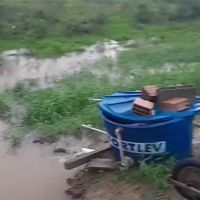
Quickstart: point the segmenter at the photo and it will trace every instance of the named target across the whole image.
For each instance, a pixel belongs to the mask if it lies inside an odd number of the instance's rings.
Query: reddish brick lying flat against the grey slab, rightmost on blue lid
[[[182,111],[189,107],[190,101],[187,98],[173,98],[161,103],[161,109],[172,112]]]

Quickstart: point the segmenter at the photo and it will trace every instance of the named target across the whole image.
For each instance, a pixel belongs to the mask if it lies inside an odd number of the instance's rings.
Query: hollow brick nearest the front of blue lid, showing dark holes
[[[136,114],[151,116],[154,114],[154,103],[141,98],[137,98],[133,102],[133,110]]]

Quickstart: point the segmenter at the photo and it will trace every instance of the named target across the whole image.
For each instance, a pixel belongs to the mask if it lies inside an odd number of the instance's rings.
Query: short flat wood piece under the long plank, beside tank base
[[[97,170],[114,170],[116,168],[116,165],[113,159],[96,158],[88,163],[88,168]]]

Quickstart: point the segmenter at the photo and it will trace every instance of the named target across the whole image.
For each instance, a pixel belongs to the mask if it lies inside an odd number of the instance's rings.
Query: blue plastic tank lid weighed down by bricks
[[[101,111],[114,119],[128,122],[153,123],[171,120],[179,117],[187,117],[200,113],[200,97],[196,98],[196,103],[191,108],[182,112],[168,112],[161,109],[155,110],[153,116],[141,116],[132,111],[133,101],[141,96],[140,91],[134,92],[117,92],[112,95],[104,96],[99,103]]]

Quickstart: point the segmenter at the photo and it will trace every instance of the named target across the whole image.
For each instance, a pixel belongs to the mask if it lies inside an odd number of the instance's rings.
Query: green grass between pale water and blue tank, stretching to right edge
[[[16,101],[27,114],[20,125],[36,129],[43,135],[78,133],[81,124],[100,127],[98,108],[89,98],[101,98],[117,90],[140,89],[144,85],[168,86],[194,84],[200,92],[199,22],[172,27],[151,26],[143,29],[130,50],[118,61],[104,60],[93,66],[101,76],[90,72],[67,77],[49,89],[31,89],[18,84],[9,91],[6,104]],[[160,40],[161,36],[164,37]],[[155,43],[151,38],[158,38]],[[22,131],[20,131],[22,132]]]

